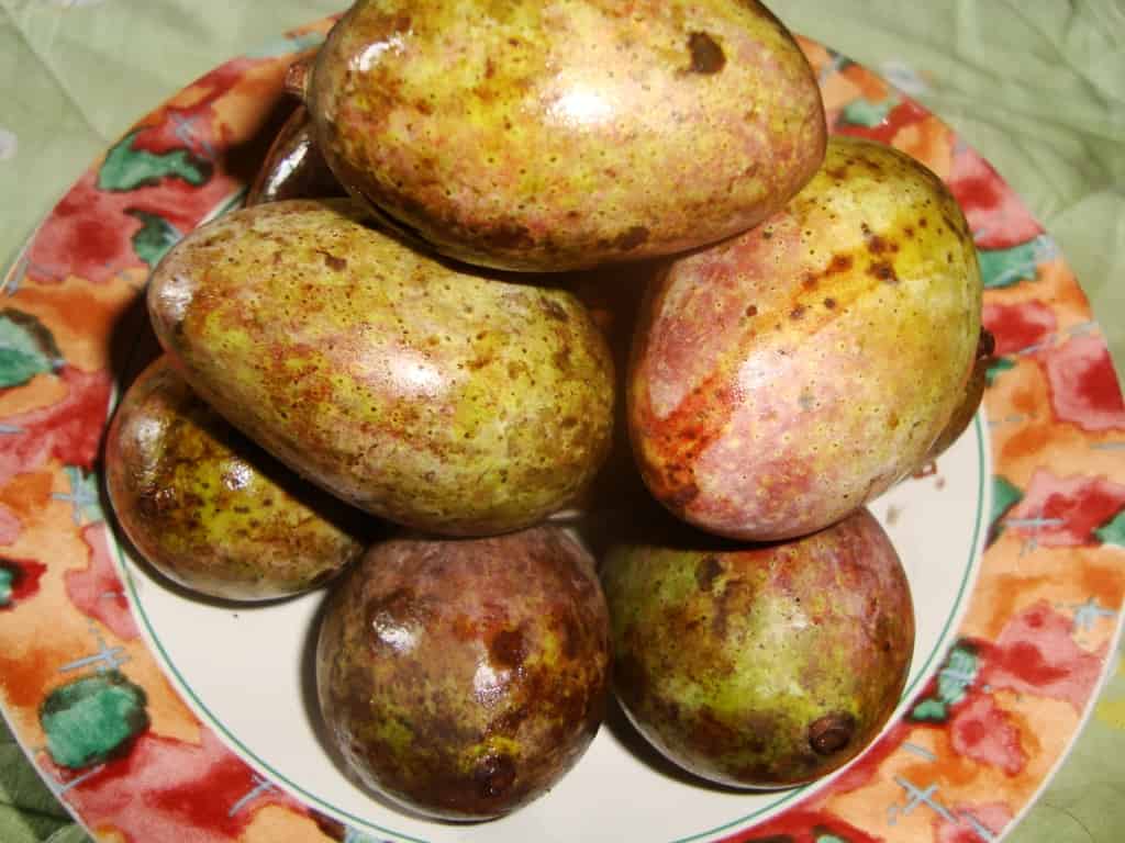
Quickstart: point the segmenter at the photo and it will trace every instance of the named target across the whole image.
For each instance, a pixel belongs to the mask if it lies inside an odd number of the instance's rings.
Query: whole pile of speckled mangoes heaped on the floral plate
[[[150,283],[107,445],[140,554],[331,580],[325,724],[428,816],[544,794],[611,692],[723,786],[862,752],[914,646],[864,507],[983,386],[942,182],[827,139],[750,0],[359,0],[290,81],[249,207]]]

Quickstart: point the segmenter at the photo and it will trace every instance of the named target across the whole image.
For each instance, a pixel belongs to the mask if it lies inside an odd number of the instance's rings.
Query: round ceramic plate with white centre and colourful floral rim
[[[1125,592],[1125,405],[1081,289],[976,153],[871,72],[803,42],[840,134],[924,161],[962,203],[997,338],[984,408],[873,505],[918,615],[909,687],[835,777],[712,790],[611,717],[512,817],[443,825],[345,774],[310,691],[323,595],[195,601],[106,519],[102,433],[155,348],[142,291],[164,252],[235,207],[287,103],[292,54],[236,58],[142,119],[78,181],[4,279],[0,308],[0,703],[44,778],[107,841],[996,840],[1065,755]]]

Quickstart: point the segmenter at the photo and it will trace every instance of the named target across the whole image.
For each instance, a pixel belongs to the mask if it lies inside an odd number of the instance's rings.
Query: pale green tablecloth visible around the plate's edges
[[[0,265],[129,124],[219,62],[345,0],[0,0]],[[1125,2],[773,0],[989,158],[1062,246],[1125,364]],[[1117,283],[1115,283],[1117,282]],[[1117,843],[1125,677],[1008,840]],[[84,840],[0,733],[0,841]]]

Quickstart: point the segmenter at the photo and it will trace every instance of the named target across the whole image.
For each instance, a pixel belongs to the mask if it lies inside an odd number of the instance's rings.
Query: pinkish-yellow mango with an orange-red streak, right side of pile
[[[976,252],[938,178],[834,137],[784,210],[650,287],[627,377],[645,482],[719,535],[825,527],[922,463],[980,323]]]

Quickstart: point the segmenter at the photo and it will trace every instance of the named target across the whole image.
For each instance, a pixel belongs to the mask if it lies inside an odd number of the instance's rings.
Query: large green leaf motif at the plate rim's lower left
[[[144,689],[118,671],[56,688],[39,706],[47,753],[61,767],[100,764],[148,727]]]

